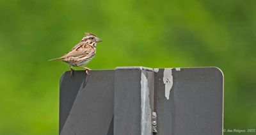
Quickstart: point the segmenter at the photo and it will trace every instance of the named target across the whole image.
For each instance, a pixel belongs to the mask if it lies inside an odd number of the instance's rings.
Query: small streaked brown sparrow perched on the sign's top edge
[[[98,42],[102,42],[93,33],[85,33],[82,40],[76,44],[69,52],[61,56],[60,58],[54,58],[52,60],[61,60],[68,64],[70,67],[70,76],[72,76],[74,69],[73,67],[84,68],[87,75],[90,68],[84,67],[86,63],[90,62],[96,54],[96,45]]]

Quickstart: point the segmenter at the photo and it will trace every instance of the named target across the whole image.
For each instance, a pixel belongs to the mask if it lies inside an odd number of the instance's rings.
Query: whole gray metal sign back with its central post
[[[60,134],[223,134],[223,74],[215,67],[69,72],[60,81]]]

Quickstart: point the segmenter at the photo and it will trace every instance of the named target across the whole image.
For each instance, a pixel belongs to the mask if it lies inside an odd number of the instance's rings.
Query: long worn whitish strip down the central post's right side
[[[148,79],[141,72],[141,135],[151,134],[151,109],[149,104]]]

